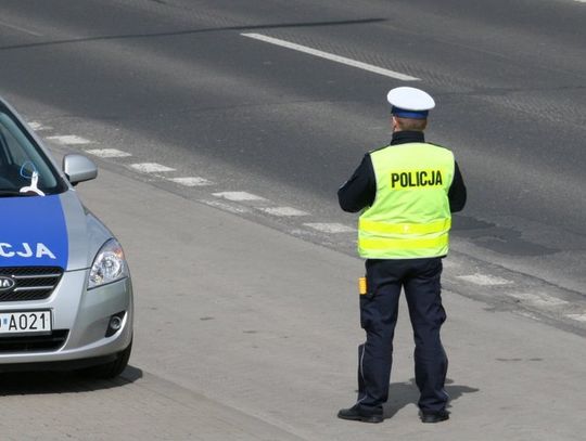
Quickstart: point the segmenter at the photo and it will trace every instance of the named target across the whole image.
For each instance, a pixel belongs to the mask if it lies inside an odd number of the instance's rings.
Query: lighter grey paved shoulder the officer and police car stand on
[[[130,366],[102,381],[1,375],[2,440],[584,439],[582,336],[445,289],[451,416],[422,425],[402,304],[387,419],[342,420],[364,341],[360,259],[105,169],[78,192],[130,262]]]

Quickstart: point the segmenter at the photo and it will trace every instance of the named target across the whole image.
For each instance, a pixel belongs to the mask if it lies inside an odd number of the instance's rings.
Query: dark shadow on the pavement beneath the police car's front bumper
[[[142,371],[133,366],[113,379],[93,379],[74,372],[11,372],[0,374],[0,397],[91,392],[126,386],[140,378]]]

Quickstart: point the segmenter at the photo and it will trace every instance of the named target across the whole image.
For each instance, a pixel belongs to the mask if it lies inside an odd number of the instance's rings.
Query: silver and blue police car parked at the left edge
[[[0,99],[0,372],[120,374],[132,346],[124,251],[79,200],[94,179],[77,154],[62,168]]]

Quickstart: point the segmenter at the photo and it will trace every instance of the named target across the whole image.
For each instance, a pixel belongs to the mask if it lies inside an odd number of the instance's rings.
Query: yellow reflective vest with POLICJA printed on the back
[[[370,153],[377,196],[358,220],[358,252],[367,259],[445,256],[449,248],[448,191],[454,154],[428,143]]]

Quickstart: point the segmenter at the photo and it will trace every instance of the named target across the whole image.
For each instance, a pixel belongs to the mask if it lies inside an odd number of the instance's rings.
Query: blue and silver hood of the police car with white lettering
[[[0,267],[87,269],[111,237],[75,190],[0,198]]]

